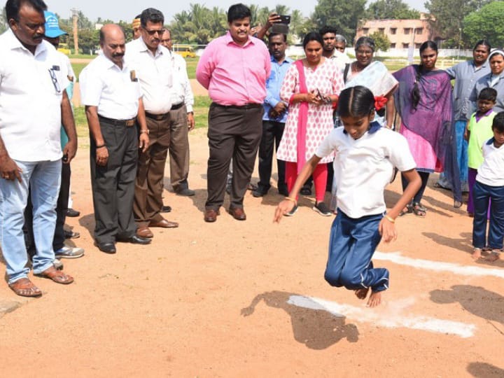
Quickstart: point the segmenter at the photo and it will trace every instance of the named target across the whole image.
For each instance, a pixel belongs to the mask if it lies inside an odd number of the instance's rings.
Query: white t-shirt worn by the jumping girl
[[[372,125],[374,129],[377,123]],[[384,127],[365,132],[359,139],[337,127],[318,146],[316,155],[323,158],[333,150],[337,207],[350,218],[384,213],[384,188],[393,167],[401,172],[416,167],[405,137]]]

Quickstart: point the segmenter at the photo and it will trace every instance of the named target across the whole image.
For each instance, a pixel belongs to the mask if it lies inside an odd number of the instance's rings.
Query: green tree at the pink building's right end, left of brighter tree
[[[479,10],[491,0],[430,0],[425,3],[431,18],[430,24],[442,38],[444,47],[465,47],[461,39],[462,22],[465,16]]]

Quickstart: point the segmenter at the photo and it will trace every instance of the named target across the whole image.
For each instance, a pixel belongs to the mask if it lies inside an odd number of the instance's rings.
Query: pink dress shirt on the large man
[[[271,63],[265,43],[249,36],[244,46],[230,32],[211,41],[198,62],[196,78],[213,102],[243,106],[262,104]]]

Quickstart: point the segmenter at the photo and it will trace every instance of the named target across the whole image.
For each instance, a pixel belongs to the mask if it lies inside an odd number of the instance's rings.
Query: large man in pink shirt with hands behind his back
[[[265,43],[249,36],[251,11],[244,4],[228,10],[229,31],[211,41],[196,69],[197,80],[209,90],[208,198],[204,221],[215,222],[224,201],[232,158],[229,213],[244,221],[244,195],[250,182],[262,134],[262,103],[270,59]]]

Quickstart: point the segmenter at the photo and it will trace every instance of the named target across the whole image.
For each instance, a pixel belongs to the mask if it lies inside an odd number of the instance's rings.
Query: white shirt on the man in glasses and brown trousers
[[[172,109],[173,63],[167,48],[152,54],[142,38],[126,44],[125,62],[134,69],[143,94],[146,112],[165,114]]]

